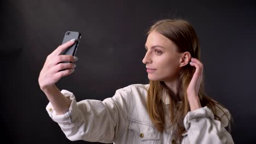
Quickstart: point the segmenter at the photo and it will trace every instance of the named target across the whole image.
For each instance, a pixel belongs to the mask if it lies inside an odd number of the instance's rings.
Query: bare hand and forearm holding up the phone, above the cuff
[[[77,61],[71,55],[60,55],[61,52],[74,44],[74,39],[60,45],[50,55],[47,56],[42,70],[40,71],[38,83],[40,89],[45,93],[48,100],[53,104],[57,114],[66,113],[71,101],[63,95],[56,87],[55,83],[61,77],[73,73],[75,65],[73,63],[61,63],[63,61]]]

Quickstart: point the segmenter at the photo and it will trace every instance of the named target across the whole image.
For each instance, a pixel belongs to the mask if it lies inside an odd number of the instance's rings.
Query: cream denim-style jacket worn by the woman
[[[228,125],[228,118],[219,110],[217,113],[222,118],[222,122],[215,120],[207,106],[187,113],[184,118],[187,133],[183,134],[181,142],[174,140],[176,130],[174,127],[167,128],[168,124],[161,134],[150,121],[147,112],[148,87],[149,84],[134,84],[118,89],[112,98],[103,101],[86,99],[78,103],[73,93],[62,90],[61,93],[72,100],[68,112],[56,115],[51,103],[46,106],[46,110],[71,141],[117,144],[234,143],[231,135],[224,128]],[[165,102],[168,104],[168,100]],[[167,105],[164,110],[167,120]],[[224,111],[230,116],[228,110],[224,109]]]

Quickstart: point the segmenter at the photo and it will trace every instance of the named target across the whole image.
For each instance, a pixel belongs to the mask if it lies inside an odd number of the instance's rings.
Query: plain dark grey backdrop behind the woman
[[[189,2],[189,1],[188,1]],[[45,111],[38,86],[46,56],[66,31],[82,33],[75,72],[57,82],[78,101],[112,97],[148,83],[146,31],[155,20],[184,18],[201,41],[206,92],[234,117],[235,143],[255,143],[255,2],[2,1],[1,125],[8,143],[69,141]]]

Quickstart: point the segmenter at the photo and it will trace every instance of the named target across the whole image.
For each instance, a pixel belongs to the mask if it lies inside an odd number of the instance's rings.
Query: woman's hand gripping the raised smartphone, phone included
[[[70,41],[71,39],[74,39],[75,42],[73,40]],[[80,34],[78,32],[66,32],[62,45],[58,46],[57,49],[46,57],[44,66],[38,77],[38,83],[42,91],[52,89],[61,77],[73,73],[75,64],[72,62],[77,61],[74,55],[79,40]]]

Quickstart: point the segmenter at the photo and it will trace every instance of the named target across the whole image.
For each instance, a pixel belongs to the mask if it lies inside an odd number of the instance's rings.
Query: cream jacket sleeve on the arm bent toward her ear
[[[207,106],[188,112],[183,121],[187,136],[184,137],[182,143],[234,143],[225,129],[229,123],[230,113],[226,109],[224,112],[228,117],[217,109],[217,115],[222,122],[214,119],[213,112]]]

